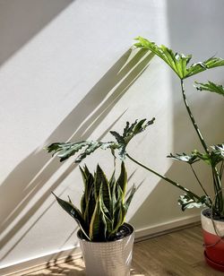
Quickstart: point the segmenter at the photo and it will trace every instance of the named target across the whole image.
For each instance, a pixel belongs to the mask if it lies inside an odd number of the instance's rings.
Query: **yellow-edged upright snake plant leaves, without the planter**
[[[90,241],[116,239],[135,192],[133,185],[125,199],[127,186],[125,163],[121,163],[121,171],[117,179],[114,171],[108,180],[99,165],[94,174],[90,173],[87,166],[80,167],[80,170],[84,184],[81,210],[73,205],[70,197],[65,201],[53,193],[57,203],[76,220],[84,238]]]

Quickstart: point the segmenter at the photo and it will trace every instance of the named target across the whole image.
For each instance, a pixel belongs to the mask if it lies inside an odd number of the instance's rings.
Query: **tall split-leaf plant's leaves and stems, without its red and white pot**
[[[173,52],[172,49],[166,46],[158,46],[154,42],[148,39],[139,37],[136,39],[134,47],[143,48],[151,50],[155,56],[164,61],[174,73],[176,73],[180,82],[180,92],[183,98],[183,102],[186,109],[186,114],[192,122],[193,129],[198,136],[199,141],[202,144],[202,151],[193,150],[190,153],[176,153],[168,155],[168,158],[173,160],[185,162],[190,168],[195,177],[195,182],[201,186],[202,194],[195,194],[194,191],[187,189],[185,186],[180,185],[177,181],[174,181],[166,176],[159,174],[155,169],[149,168],[142,164],[139,160],[134,159],[133,156],[127,150],[127,145],[134,138],[136,134],[140,134],[148,128],[149,125],[154,123],[155,118],[150,121],[142,119],[140,121],[136,120],[134,124],[126,123],[123,134],[118,134],[116,131],[111,131],[116,141],[112,142],[67,142],[67,143],[53,143],[48,146],[47,150],[52,151],[61,160],[65,160],[72,156],[78,151],[82,151],[78,157],[76,157],[75,162],[82,161],[87,155],[98,150],[98,149],[110,149],[112,154],[116,156],[116,151],[118,151],[118,156],[121,160],[125,158],[134,161],[135,164],[145,168],[151,173],[161,177],[171,185],[175,185],[178,189],[184,192],[183,195],[179,197],[178,203],[182,210],[189,208],[199,208],[199,207],[209,207],[213,211],[213,215],[217,218],[224,218],[224,198],[222,189],[222,176],[224,170],[224,143],[209,146],[204,139],[199,126],[197,125],[192,110],[187,102],[187,97],[185,93],[184,82],[186,78],[190,78],[193,75],[202,73],[205,70],[212,69],[215,67],[223,66],[224,60],[220,57],[212,56],[203,62],[197,62],[190,65],[192,60],[191,55],[183,55]],[[220,96],[224,96],[224,87],[221,84],[216,84],[214,82],[195,82],[194,87],[196,91],[208,91],[211,93],[216,93]],[[194,163],[204,162],[210,167],[212,183],[204,185],[194,168]],[[208,185],[213,187],[213,193],[208,194]]]

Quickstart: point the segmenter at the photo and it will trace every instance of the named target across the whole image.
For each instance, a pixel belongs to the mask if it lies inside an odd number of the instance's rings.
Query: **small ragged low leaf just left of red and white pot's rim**
[[[181,205],[182,211],[185,211],[185,209],[191,209],[194,207],[206,207],[208,206],[208,204],[210,204],[210,200],[209,197],[206,195],[202,195],[199,199],[196,199],[194,195],[189,193],[180,195],[178,204]]]

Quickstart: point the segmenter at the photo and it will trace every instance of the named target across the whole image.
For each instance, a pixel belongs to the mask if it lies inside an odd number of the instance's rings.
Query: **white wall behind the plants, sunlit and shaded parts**
[[[122,130],[126,120],[155,116],[156,124],[136,137],[130,152],[194,187],[185,168],[166,159],[169,152],[198,145],[177,78],[155,57],[134,82],[146,55],[132,73],[120,69],[136,54],[129,47],[138,35],[192,53],[195,62],[224,56],[220,1],[0,0],[0,19],[2,267],[77,245],[76,224],[50,191],[70,194],[78,203],[82,179],[73,160],[61,165],[42,150],[50,142],[107,140],[108,130]],[[208,75],[202,73],[200,80]],[[223,71],[210,72],[210,79],[223,82]],[[194,92],[193,81],[186,87],[202,132],[210,143],[221,142],[223,127],[213,118],[221,116],[221,100]],[[112,171],[108,152],[86,160],[92,169],[98,162]],[[182,213],[179,191],[130,161],[127,167],[134,173],[130,182],[142,183],[127,216],[136,229],[199,213]],[[207,181],[206,168],[200,172]]]

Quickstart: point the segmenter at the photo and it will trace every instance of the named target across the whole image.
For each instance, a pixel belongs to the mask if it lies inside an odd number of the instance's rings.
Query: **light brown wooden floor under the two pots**
[[[135,276],[219,276],[203,259],[202,229],[194,227],[134,244],[131,275]],[[19,274],[16,274],[19,276]],[[20,275],[83,276],[82,259]],[[99,275],[103,276],[103,275]],[[119,276],[119,275],[117,275]]]

